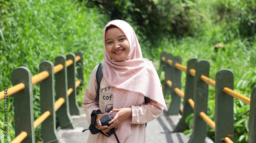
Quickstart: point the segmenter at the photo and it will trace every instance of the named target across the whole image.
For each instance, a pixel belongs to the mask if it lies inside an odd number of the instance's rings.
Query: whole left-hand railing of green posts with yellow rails
[[[31,76],[27,67],[18,67],[12,71],[13,87],[0,92],[0,100],[8,101],[8,96],[14,96],[16,137],[12,143],[34,143],[34,129],[40,124],[44,142],[60,142],[55,111],[61,128],[75,128],[71,115],[80,114],[76,95],[78,85],[83,83],[82,70],[82,53],[77,52],[68,54],[67,58],[57,56],[54,64],[50,61],[41,62],[39,73],[34,76]],[[40,86],[41,116],[34,121],[32,85],[36,83]]]

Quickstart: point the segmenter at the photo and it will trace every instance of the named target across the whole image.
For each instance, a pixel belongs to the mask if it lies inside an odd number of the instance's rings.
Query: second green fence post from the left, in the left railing
[[[59,142],[56,131],[56,117],[54,109],[54,72],[53,63],[44,61],[40,63],[39,72],[47,71],[49,77],[40,82],[40,108],[41,115],[45,111],[50,111],[50,116],[41,123],[41,134],[44,142]]]

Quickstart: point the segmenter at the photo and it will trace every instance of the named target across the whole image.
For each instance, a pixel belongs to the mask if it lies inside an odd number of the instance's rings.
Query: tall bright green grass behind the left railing
[[[59,55],[81,51],[84,58],[86,79],[97,63],[103,60],[102,29],[108,17],[98,13],[97,8],[86,8],[87,2],[78,1],[9,1],[2,9],[0,21],[0,89],[12,87],[11,72],[19,67],[28,67],[32,75],[39,71],[39,63],[54,62]],[[78,102],[81,103],[80,92]],[[3,107],[3,100],[0,102]],[[14,138],[13,96],[9,97],[8,132],[4,139],[4,110],[0,116],[0,142]],[[39,87],[33,85],[34,119],[40,115]],[[40,126],[35,130],[36,142],[42,140]]]

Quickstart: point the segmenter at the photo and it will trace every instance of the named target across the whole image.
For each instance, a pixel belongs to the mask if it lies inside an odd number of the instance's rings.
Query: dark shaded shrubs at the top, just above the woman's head
[[[136,33],[141,34],[142,42],[149,40],[158,46],[162,36],[198,35],[204,18],[194,1],[99,1],[94,4],[101,7],[111,19],[122,19],[137,26]],[[143,36],[142,36],[143,34]]]

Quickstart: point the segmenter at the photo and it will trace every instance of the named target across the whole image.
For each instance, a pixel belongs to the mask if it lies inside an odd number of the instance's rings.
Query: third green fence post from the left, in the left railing
[[[56,99],[63,98],[65,102],[56,111],[58,116],[58,121],[61,128],[71,128],[74,129],[75,125],[70,116],[69,112],[69,98],[68,98],[68,81],[67,81],[67,66],[66,58],[63,55],[59,55],[55,58],[55,66],[61,64],[63,69],[55,74],[55,89],[56,89]]]

